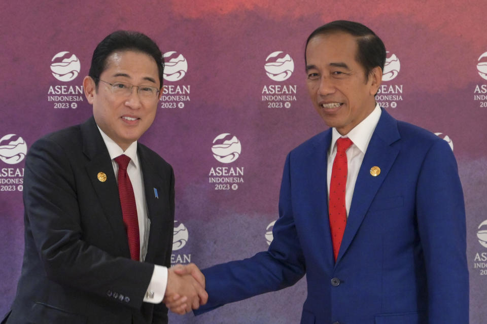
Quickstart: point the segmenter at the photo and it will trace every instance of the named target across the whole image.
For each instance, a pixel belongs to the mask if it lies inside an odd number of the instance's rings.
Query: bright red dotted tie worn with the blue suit
[[[331,240],[333,242],[333,255],[338,257],[343,232],[346,225],[345,185],[348,167],[345,151],[353,144],[350,138],[340,137],[336,141],[336,156],[331,169],[330,204],[328,212],[330,217]]]

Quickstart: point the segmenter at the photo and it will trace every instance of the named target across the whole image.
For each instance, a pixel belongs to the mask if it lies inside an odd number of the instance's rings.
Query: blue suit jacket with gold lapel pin
[[[336,263],[328,221],[331,129],[286,159],[269,250],[203,270],[208,303],[276,291],[304,274],[301,323],[468,323],[463,192],[448,144],[382,110]],[[370,168],[380,174],[372,176]]]

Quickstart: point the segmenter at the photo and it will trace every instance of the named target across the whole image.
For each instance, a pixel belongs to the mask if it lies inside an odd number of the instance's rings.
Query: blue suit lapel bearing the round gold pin
[[[352,204],[350,206],[349,218],[347,219],[336,263],[340,261],[352,243],[372,200],[396,160],[399,149],[392,146],[392,143],[399,139],[400,135],[397,129],[397,121],[382,109],[379,122],[372,134],[364,160],[360,166]],[[379,175],[372,176],[370,174],[370,168],[373,166],[380,168]]]

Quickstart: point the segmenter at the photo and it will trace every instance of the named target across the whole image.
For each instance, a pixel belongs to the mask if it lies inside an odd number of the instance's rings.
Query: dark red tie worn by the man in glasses
[[[137,207],[133,195],[132,183],[127,173],[127,165],[130,158],[124,154],[115,158],[118,164],[118,193],[122,205],[123,224],[127,231],[130,258],[140,260],[141,241],[138,234]]]

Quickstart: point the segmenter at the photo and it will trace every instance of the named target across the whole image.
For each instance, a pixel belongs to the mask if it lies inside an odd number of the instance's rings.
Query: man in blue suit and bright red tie
[[[209,299],[196,313],[306,274],[303,324],[468,323],[465,207],[448,144],[375,102],[386,50],[366,26],[316,29],[305,58],[330,129],[289,153],[268,251],[203,270]]]

